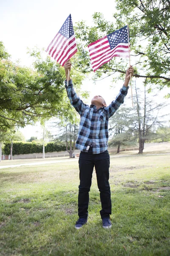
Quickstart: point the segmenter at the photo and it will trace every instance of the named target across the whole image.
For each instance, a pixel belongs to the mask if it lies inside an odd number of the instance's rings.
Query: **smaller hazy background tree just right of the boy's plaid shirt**
[[[117,153],[120,152],[120,146],[131,146],[136,143],[128,131],[131,124],[131,111],[131,108],[120,107],[110,119],[109,134],[112,139],[109,145],[117,146]]]

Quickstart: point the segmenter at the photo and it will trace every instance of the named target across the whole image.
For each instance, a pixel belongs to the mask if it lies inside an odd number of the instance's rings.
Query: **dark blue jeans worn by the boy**
[[[110,156],[108,150],[100,154],[92,154],[92,148],[88,152],[80,152],[79,155],[79,218],[88,217],[89,191],[91,188],[92,173],[95,166],[97,185],[100,192],[102,210],[101,218],[109,218],[111,214],[111,190],[109,185]]]

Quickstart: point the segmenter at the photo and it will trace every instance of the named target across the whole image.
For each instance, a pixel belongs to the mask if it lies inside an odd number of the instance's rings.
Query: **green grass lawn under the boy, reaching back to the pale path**
[[[0,169],[0,256],[170,255],[170,155],[111,158],[109,230],[95,171],[88,223],[74,228],[78,185],[78,159]]]

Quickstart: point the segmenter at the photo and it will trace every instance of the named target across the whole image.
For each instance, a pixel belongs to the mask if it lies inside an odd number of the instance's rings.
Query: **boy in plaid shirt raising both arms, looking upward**
[[[79,133],[76,146],[80,149],[79,155],[79,195],[78,195],[78,215],[79,219],[75,228],[79,229],[88,220],[89,191],[91,187],[92,173],[95,166],[97,185],[100,192],[102,210],[100,215],[104,228],[111,228],[111,191],[109,185],[110,156],[108,153],[108,119],[113,116],[119,106],[124,102],[127,95],[130,73],[133,76],[133,67],[126,71],[125,82],[120,89],[115,101],[107,107],[102,96],[94,96],[91,106],[82,102],[74,91],[73,84],[68,77],[68,70],[71,70],[70,60],[65,65],[65,88],[71,105],[81,116]],[[67,87],[68,80],[68,87]]]

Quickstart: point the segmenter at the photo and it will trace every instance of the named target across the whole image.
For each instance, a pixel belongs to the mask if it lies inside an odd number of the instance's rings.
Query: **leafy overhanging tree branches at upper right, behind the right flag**
[[[170,1],[116,0],[116,3],[113,22],[105,20],[101,13],[94,13],[94,26],[89,27],[84,21],[77,23],[79,70],[92,71],[88,44],[128,23],[131,56],[136,62],[134,77],[147,79],[150,86],[157,84],[159,89],[170,87]],[[126,70],[127,59],[113,58],[95,72],[94,79],[105,73],[108,76],[119,73],[117,79],[122,79]]]

